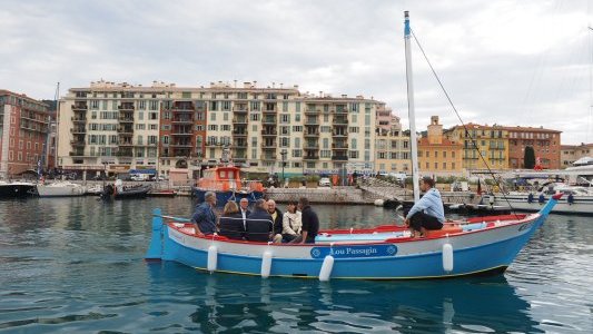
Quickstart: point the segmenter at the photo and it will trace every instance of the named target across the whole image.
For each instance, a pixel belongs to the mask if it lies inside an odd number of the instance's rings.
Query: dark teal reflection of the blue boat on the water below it
[[[152,285],[194,296],[188,314],[206,333],[398,331],[540,332],[530,304],[504,276],[429,282],[320,283],[196,273],[148,265]],[[174,282],[171,282],[171,279]],[[174,286],[171,286],[174,283]]]

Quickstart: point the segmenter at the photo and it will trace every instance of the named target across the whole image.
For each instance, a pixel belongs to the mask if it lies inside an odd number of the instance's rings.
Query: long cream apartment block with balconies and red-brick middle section
[[[196,173],[220,163],[286,175],[373,169],[380,107],[362,96],[309,95],[274,84],[92,82],[60,101],[58,163],[90,175],[175,167]]]

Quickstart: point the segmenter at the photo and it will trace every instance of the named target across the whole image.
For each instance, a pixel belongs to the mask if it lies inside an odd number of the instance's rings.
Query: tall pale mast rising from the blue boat
[[[412,185],[414,186],[414,203],[421,198],[418,176],[418,143],[416,141],[416,115],[414,112],[414,81],[412,79],[412,50],[409,47],[411,28],[409,13],[404,11],[404,41],[406,49],[406,81],[407,81],[407,115],[409,118],[409,145],[412,147]]]

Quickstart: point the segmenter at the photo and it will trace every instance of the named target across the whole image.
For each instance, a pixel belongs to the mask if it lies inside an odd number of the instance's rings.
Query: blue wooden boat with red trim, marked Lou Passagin
[[[398,226],[325,230],[315,244],[291,245],[199,237],[185,218],[156,209],[147,261],[261,277],[416,279],[504,272],[562,195],[536,214],[457,222],[415,239]],[[374,239],[373,239],[374,238]]]

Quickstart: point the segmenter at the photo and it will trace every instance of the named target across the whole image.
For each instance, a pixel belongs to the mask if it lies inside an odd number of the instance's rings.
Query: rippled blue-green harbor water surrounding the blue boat
[[[146,263],[155,207],[189,216],[194,203],[0,202],[0,332],[593,332],[591,217],[551,215],[504,275],[320,283]],[[323,228],[395,217],[374,206],[314,208]]]

